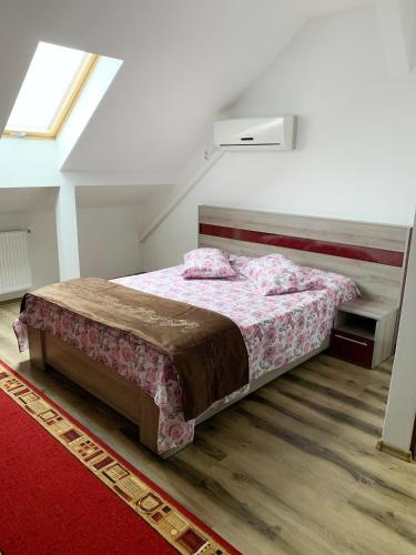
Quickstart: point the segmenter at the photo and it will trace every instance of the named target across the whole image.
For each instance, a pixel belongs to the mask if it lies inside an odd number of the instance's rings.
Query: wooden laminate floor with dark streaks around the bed
[[[18,310],[0,306],[0,357],[244,554],[416,554],[416,465],[375,450],[390,362],[367,371],[319,355],[163,462],[116,413],[31,369],[11,331]]]

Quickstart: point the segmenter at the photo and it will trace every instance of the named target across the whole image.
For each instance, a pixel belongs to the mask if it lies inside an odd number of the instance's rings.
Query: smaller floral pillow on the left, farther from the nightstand
[[[184,255],[183,278],[204,280],[235,275],[230,254],[221,249],[195,249]]]

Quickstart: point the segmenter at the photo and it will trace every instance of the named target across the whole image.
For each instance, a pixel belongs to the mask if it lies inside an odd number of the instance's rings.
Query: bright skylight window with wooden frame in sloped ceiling
[[[97,59],[82,50],[39,42],[4,134],[55,138]]]

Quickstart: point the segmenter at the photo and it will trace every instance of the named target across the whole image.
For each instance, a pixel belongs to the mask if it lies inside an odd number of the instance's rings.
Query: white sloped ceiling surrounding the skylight
[[[38,41],[124,60],[64,170],[172,175],[306,19],[372,0],[1,0],[0,125]]]

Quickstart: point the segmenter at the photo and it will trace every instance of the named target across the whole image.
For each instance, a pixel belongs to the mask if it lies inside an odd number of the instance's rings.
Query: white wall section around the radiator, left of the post
[[[29,256],[32,289],[59,281],[55,220],[52,211],[0,213],[0,231],[30,229]],[[0,301],[16,299],[18,293],[0,295]]]

